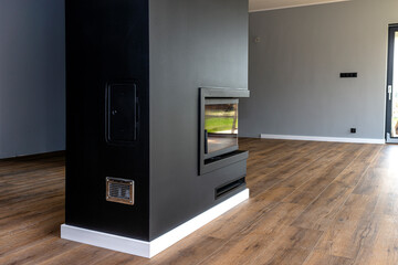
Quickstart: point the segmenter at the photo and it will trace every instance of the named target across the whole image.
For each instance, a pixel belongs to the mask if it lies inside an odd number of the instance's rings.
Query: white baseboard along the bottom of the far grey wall
[[[262,139],[279,140],[306,140],[306,141],[334,141],[334,142],[353,142],[353,144],[386,144],[385,139],[373,138],[343,138],[343,137],[318,137],[318,136],[290,136],[290,135],[266,135],[260,136]]]

